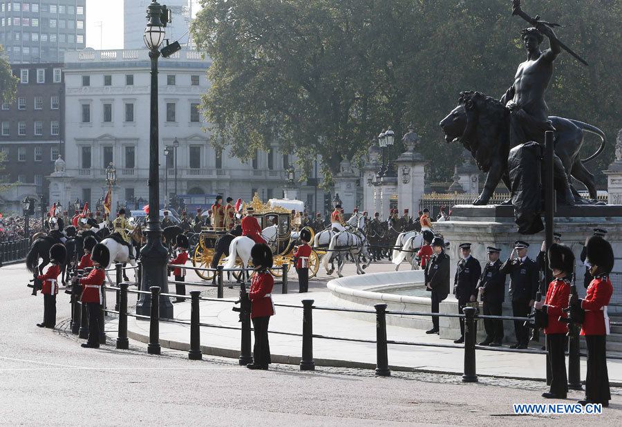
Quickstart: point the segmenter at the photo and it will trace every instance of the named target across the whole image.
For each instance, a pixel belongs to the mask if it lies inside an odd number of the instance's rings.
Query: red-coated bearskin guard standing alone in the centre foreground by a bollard
[[[254,362],[246,367],[249,369],[267,369],[271,363],[270,343],[268,342],[268,323],[274,316],[272,287],[274,278],[270,274],[272,268],[272,251],[265,243],[258,243],[251,249],[251,258],[255,272],[251,280],[248,298],[251,301],[251,321],[253,322],[255,345],[253,348]]]

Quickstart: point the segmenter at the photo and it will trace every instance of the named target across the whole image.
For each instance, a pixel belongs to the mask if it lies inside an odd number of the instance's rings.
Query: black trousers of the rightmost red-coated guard
[[[585,399],[594,404],[604,404],[611,400],[609,374],[607,373],[606,337],[606,335],[585,335],[585,343],[587,343]]]

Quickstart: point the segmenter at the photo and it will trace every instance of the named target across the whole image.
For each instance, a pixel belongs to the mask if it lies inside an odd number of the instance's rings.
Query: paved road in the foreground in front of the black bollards
[[[0,425],[620,425],[622,391],[603,415],[513,416],[511,404],[542,401],[542,383],[274,366],[248,371],[231,359],[189,361],[163,350],[148,356],[111,345],[84,349],[67,333],[68,298],[59,294],[56,330],[41,330],[43,300],[30,296],[22,265],[0,269]],[[293,285],[293,284],[292,284]],[[294,285],[295,286],[295,285]],[[581,393],[572,392],[573,399]],[[571,403],[572,400],[567,400]],[[617,421],[616,421],[617,420]]]

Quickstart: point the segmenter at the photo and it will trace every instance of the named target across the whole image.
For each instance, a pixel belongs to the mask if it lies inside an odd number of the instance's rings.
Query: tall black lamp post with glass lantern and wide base
[[[161,293],[169,292],[167,282],[167,249],[162,245],[160,228],[160,162],[158,161],[158,58],[160,45],[164,41],[169,22],[166,6],[153,0],[147,8],[147,28],[144,29],[144,44],[149,48],[151,59],[151,122],[149,129],[149,218],[147,219],[147,243],[140,250],[142,260],[142,278],[140,290],[149,291],[152,286],[160,287]],[[164,21],[164,22],[163,22]],[[160,296],[160,317],[173,318],[173,305],[168,297]],[[151,312],[151,294],[140,294],[136,312],[149,315]]]

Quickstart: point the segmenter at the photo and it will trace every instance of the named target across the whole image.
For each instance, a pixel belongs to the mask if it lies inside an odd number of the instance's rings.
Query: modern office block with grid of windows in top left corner
[[[86,0],[0,0],[0,44],[13,64],[62,62],[85,42]]]

